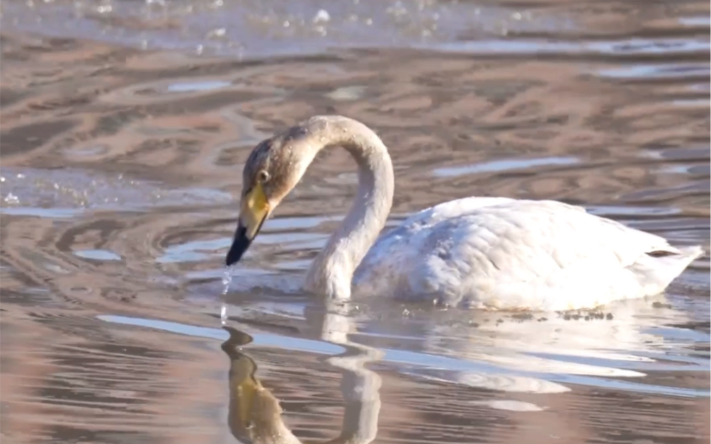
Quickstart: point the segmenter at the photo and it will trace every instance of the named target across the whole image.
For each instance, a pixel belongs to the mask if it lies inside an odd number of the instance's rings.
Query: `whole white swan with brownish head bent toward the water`
[[[673,247],[582,207],[507,197],[429,207],[375,242],[395,188],[390,155],[365,124],[327,115],[302,121],[250,153],[227,266],[240,261],[316,153],[335,146],[358,164],[358,192],[306,273],[310,293],[488,310],[577,310],[661,293],[703,253],[700,246]]]

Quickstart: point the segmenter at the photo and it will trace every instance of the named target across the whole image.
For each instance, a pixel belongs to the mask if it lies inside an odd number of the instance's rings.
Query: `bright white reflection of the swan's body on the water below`
[[[683,327],[690,322],[688,313],[658,301],[628,300],[604,313],[526,319],[463,310],[383,316],[385,310],[374,306],[368,311],[377,317],[363,313],[353,320],[360,331],[355,340],[381,347],[385,362],[397,360],[400,371],[413,377],[478,389],[553,394],[570,391],[572,384],[615,384],[675,391],[646,386],[646,375],[668,367],[708,367],[667,353],[678,350],[680,342],[707,341],[708,335],[690,337]]]

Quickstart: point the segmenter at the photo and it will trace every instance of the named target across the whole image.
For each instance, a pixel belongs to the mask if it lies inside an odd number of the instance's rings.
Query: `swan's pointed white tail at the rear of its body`
[[[702,247],[681,247],[669,251],[653,251],[643,254],[634,264],[634,271],[644,287],[646,296],[664,291],[694,259],[704,254]]]

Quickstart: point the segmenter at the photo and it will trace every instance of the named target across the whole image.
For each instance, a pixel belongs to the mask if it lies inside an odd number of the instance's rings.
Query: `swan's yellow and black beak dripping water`
[[[267,197],[264,195],[262,184],[257,183],[245,197],[242,197],[240,222],[237,224],[232,247],[230,247],[227,258],[225,258],[227,266],[235,264],[235,262],[242,259],[242,254],[245,254],[252,241],[257,237],[268,215],[269,202],[267,202]]]

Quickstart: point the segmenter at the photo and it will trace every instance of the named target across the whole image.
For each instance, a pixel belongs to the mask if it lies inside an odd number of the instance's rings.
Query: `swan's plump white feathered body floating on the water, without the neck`
[[[700,254],[562,202],[469,197],[381,237],[354,284],[449,305],[571,310],[661,293]]]

